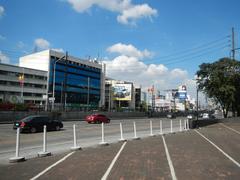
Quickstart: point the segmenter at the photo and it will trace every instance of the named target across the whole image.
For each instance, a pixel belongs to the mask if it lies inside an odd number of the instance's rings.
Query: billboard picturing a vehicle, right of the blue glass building
[[[113,100],[131,101],[132,84],[114,84]]]

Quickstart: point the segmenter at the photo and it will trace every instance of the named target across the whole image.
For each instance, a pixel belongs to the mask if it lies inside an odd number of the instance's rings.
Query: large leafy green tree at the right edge
[[[203,63],[197,71],[198,88],[220,104],[224,117],[230,109],[240,115],[240,63],[222,58],[214,63]]]

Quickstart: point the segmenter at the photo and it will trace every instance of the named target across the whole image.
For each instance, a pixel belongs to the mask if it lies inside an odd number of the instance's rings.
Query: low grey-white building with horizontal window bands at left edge
[[[0,63],[0,102],[43,104],[47,71]]]

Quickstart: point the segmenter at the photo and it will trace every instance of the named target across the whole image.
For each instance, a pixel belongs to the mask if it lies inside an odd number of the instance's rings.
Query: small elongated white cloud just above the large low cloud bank
[[[126,56],[137,57],[140,59],[150,58],[153,56],[153,53],[146,49],[143,51],[140,51],[131,44],[126,45],[122,43],[117,43],[117,44],[114,44],[113,46],[108,47],[107,51],[111,53],[119,53]]]

